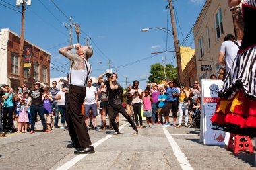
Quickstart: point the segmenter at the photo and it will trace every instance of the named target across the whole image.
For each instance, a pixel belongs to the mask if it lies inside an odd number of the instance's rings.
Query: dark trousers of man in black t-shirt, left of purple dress
[[[36,124],[37,112],[39,114],[40,120],[42,122],[42,126],[44,130],[47,129],[46,120],[44,118],[44,105],[31,105],[30,113],[31,113],[31,130],[34,131],[34,125]]]

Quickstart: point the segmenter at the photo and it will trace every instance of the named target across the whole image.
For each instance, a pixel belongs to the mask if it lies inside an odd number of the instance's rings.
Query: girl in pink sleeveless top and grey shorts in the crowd
[[[153,100],[152,100],[152,97],[150,97],[149,95],[149,91],[146,89],[144,90],[144,97],[142,98],[143,99],[143,108],[144,108],[144,117],[147,118],[147,126],[146,128],[149,128],[150,127],[150,122],[152,124],[151,128],[154,128],[154,122],[153,122],[153,119],[152,119],[152,103],[153,103]]]

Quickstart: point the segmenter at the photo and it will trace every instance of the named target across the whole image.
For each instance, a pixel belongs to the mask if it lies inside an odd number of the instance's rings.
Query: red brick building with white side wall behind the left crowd
[[[24,83],[32,87],[40,81],[49,85],[51,54],[46,50],[24,40],[24,46],[32,51],[31,67],[24,67]],[[5,28],[0,31],[0,84],[10,85],[17,89],[20,79],[20,36]]]

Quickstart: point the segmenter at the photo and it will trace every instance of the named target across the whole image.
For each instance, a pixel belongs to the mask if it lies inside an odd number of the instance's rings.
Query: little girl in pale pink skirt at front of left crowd
[[[20,100],[20,103],[17,105],[17,110],[19,110],[20,132],[27,132],[27,123],[29,121],[25,98]]]

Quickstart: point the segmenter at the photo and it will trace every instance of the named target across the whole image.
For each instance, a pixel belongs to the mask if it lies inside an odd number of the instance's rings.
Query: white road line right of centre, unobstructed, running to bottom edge
[[[177,142],[175,142],[174,138],[172,138],[172,135],[170,135],[166,127],[162,127],[162,129],[164,130],[164,134],[166,135],[166,138],[168,139],[170,146],[172,147],[172,151],[174,152],[175,157],[181,165],[181,169],[192,170],[193,167],[191,167],[189,161],[187,160],[187,157],[185,157],[185,154],[181,152],[179,145],[177,144]]]

